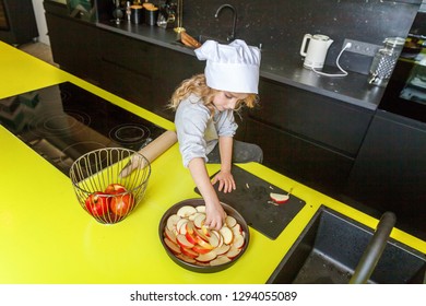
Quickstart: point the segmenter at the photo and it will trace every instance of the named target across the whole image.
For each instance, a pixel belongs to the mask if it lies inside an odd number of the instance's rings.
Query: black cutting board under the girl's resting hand
[[[247,224],[259,231],[270,239],[276,239],[306,202],[291,195],[287,202],[275,205],[271,203],[270,193],[287,193],[258,176],[233,165],[232,174],[236,183],[236,190],[224,193],[218,191],[218,184],[214,185],[218,199],[236,209]],[[215,175],[215,174],[214,174]],[[213,175],[213,176],[214,176]],[[212,176],[212,177],[213,177]],[[288,186],[291,188],[292,186]],[[196,192],[200,193],[196,188]]]

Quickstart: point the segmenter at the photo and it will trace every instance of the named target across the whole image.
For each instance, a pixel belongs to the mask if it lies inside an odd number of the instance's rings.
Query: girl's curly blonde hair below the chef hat
[[[180,102],[187,98],[190,94],[194,94],[203,99],[204,105],[214,114],[213,98],[217,94],[217,90],[211,89],[205,83],[204,74],[196,74],[191,79],[184,80],[173,93],[168,107],[176,110]],[[248,96],[239,101],[235,110],[239,110],[244,105],[253,108],[259,103],[257,94],[248,94]]]

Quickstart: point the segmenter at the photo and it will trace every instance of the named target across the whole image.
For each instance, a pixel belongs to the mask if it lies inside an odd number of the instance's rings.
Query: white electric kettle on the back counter
[[[308,69],[321,69],[324,66],[327,51],[333,42],[326,35],[305,34],[300,47],[300,55],[305,57],[304,67]]]

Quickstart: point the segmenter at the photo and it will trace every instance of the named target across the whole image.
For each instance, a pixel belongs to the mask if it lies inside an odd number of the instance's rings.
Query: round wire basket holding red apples
[[[135,164],[122,176],[122,169]],[[122,148],[91,151],[70,168],[70,178],[81,207],[97,222],[114,224],[126,219],[144,197],[151,164],[142,154]]]

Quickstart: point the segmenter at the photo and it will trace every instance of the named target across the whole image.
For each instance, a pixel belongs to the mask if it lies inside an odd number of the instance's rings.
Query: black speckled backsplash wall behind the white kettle
[[[99,17],[105,17],[106,3],[97,0]],[[123,1],[126,2],[126,1]],[[154,4],[164,0],[151,0]],[[177,1],[175,1],[177,2]],[[205,35],[225,40],[233,26],[230,10],[217,8],[232,4],[238,13],[236,37],[259,46],[281,61],[297,60],[305,34],[324,34],[331,45],[326,64],[335,60],[345,38],[382,46],[386,37],[406,37],[422,0],[184,0],[182,25],[197,37]],[[168,30],[170,31],[170,30]],[[372,57],[344,52],[340,64],[350,71],[368,73]]]

